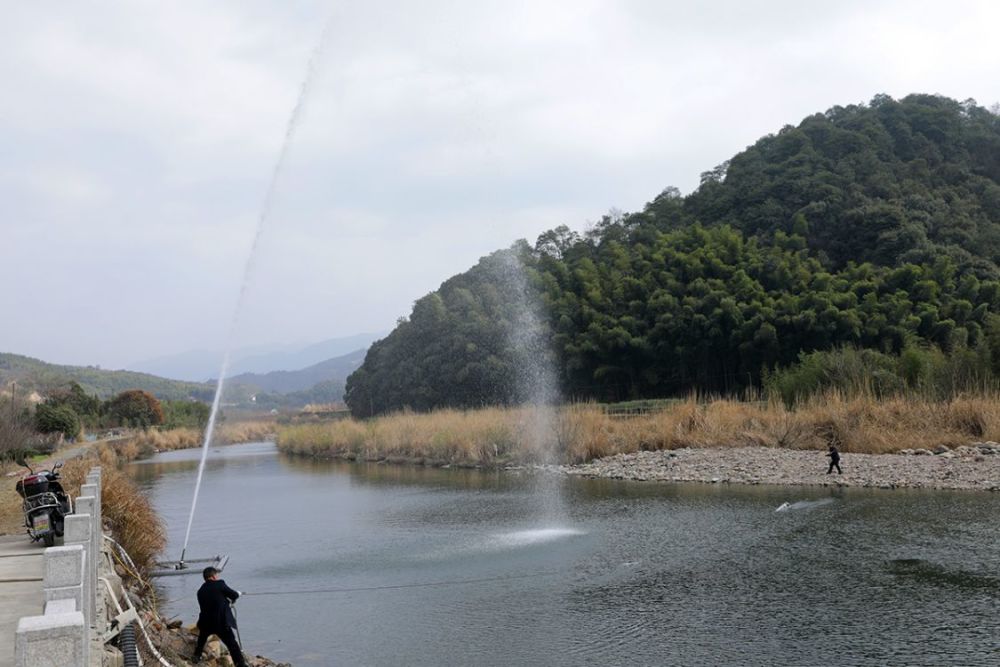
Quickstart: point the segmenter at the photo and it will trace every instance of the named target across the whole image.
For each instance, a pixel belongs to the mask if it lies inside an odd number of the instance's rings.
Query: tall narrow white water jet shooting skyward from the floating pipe
[[[198,478],[194,485],[194,497],[191,499],[191,514],[188,516],[187,530],[184,532],[184,547],[181,549],[180,558],[181,563],[184,562],[184,555],[187,552],[188,540],[191,538],[191,524],[194,522],[194,511],[198,505],[198,492],[201,490],[201,478],[205,472],[205,459],[208,458],[208,450],[212,444],[212,433],[215,430],[215,419],[219,414],[219,403],[222,400],[222,389],[225,385],[226,375],[229,372],[229,355],[233,347],[240,313],[243,310],[243,302],[246,299],[247,286],[250,283],[250,277],[253,273],[254,263],[257,258],[257,247],[260,245],[261,235],[264,232],[267,221],[271,217],[271,208],[274,204],[274,196],[278,180],[281,178],[281,173],[284,171],[285,162],[288,159],[288,152],[292,145],[292,140],[295,138],[295,132],[298,129],[299,120],[302,117],[302,110],[305,107],[306,100],[309,97],[309,91],[316,76],[320,56],[323,53],[323,48],[326,45],[332,27],[333,19],[331,17],[331,19],[328,20],[326,25],[323,27],[323,32],[320,34],[319,42],[316,44],[316,48],[313,49],[312,54],[309,56],[309,63],[306,66],[305,78],[302,81],[302,86],[299,88],[299,95],[295,101],[295,106],[292,108],[291,116],[288,118],[288,124],[285,126],[285,136],[281,144],[281,152],[278,153],[278,160],[274,164],[274,170],[271,172],[271,180],[268,182],[267,190],[264,193],[264,201],[261,204],[260,214],[257,218],[257,229],[254,233],[253,245],[250,247],[250,255],[247,257],[247,262],[243,267],[243,280],[240,283],[240,294],[236,300],[236,307],[233,309],[233,316],[230,320],[229,335],[226,339],[226,349],[222,357],[222,368],[219,371],[219,381],[215,387],[215,397],[212,399],[212,410],[209,413],[208,425],[205,427],[205,442],[201,451],[201,461],[198,464]]]

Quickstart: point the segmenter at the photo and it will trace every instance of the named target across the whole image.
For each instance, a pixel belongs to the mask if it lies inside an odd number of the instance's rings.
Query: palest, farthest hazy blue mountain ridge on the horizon
[[[335,357],[365,349],[385,333],[361,333],[310,345],[256,346],[235,350],[229,364],[230,377],[246,373],[308,370]],[[189,350],[128,364],[131,370],[174,380],[211,381],[219,376],[221,350]]]

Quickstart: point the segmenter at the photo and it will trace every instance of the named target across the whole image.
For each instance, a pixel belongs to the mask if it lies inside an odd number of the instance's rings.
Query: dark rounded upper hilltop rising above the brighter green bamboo
[[[683,210],[682,224],[801,234],[829,268],[945,255],[998,278],[1000,118],[930,95],[834,107],[702,174]]]

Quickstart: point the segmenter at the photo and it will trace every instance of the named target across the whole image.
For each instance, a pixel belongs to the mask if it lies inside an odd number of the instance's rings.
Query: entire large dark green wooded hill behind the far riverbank
[[[835,107],[687,197],[667,188],[583,235],[494,253],[372,346],[352,411],[524,400],[511,254],[567,398],[737,391],[843,345],[936,346],[1000,371],[1000,118],[927,95]]]

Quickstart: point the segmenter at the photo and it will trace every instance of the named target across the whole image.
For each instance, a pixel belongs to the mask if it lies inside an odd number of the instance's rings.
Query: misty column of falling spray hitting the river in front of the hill
[[[559,383],[543,326],[541,304],[530,289],[517,246],[498,253],[498,284],[511,299],[508,340],[515,357],[515,394],[525,401],[528,446],[543,466],[559,463]],[[542,520],[566,520],[561,478],[548,471],[537,477]]]

